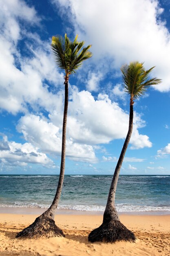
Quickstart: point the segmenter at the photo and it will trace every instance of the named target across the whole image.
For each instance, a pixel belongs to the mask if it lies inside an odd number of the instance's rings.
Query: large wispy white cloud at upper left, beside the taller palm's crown
[[[30,25],[40,21],[35,9],[23,1],[2,0],[0,14],[0,108],[12,114],[27,112],[27,104],[34,109],[53,108],[56,98],[45,81],[62,85],[63,74],[57,71],[50,43],[29,32]],[[20,20],[29,24],[28,31],[22,29]],[[23,39],[29,57],[18,48]]]

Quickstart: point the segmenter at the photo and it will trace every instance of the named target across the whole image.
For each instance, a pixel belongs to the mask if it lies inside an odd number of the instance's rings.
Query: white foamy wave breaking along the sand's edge
[[[14,202],[14,203],[5,203],[0,204],[0,207],[10,207],[10,208],[49,208],[50,205],[46,204],[37,204],[37,203],[23,203],[23,202]],[[75,211],[104,211],[105,206],[102,205],[67,205],[60,204],[58,209],[65,210],[75,210]],[[118,212],[157,212],[157,211],[170,211],[170,207],[159,207],[159,206],[148,206],[148,205],[131,205],[131,204],[117,204],[116,209]]]

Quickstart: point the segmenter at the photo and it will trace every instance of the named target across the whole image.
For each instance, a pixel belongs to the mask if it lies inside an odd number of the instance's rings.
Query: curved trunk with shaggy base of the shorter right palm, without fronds
[[[108,194],[108,200],[106,204],[106,209],[104,211],[103,223],[97,229],[91,231],[88,236],[90,242],[113,242],[116,241],[130,241],[135,242],[135,235],[132,231],[128,230],[119,220],[117,210],[115,208],[115,192],[117,187],[117,181],[119,177],[119,172],[121,165],[124,160],[126,149],[128,147],[130,137],[133,130],[133,100],[130,99],[130,115],[129,115],[129,129],[126,136],[124,146],[121,150],[117,166],[115,168],[115,173],[113,175],[113,180],[110,186],[110,191]]]

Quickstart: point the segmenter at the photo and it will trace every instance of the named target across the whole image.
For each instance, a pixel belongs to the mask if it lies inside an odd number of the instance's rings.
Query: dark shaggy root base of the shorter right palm
[[[126,241],[135,243],[136,237],[120,221],[104,222],[100,227],[91,231],[88,236],[90,242],[118,242]]]

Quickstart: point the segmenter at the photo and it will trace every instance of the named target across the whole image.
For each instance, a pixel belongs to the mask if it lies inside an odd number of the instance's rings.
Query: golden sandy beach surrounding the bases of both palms
[[[94,214],[56,215],[55,222],[66,238],[15,238],[37,216],[0,213],[0,256],[170,256],[170,215],[119,215],[121,222],[135,233],[136,243],[89,243],[89,232],[102,223],[102,215]]]

